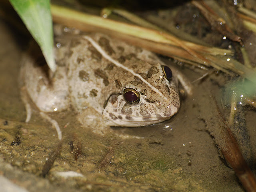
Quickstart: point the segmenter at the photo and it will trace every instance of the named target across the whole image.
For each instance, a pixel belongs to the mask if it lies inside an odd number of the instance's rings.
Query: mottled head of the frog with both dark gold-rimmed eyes
[[[166,65],[155,64],[142,77],[125,82],[104,104],[110,126],[146,126],[169,119],[180,107],[176,79]]]

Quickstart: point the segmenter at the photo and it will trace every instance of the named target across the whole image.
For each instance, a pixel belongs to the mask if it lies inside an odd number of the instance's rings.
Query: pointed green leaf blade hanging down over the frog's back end
[[[52,16],[49,0],[10,0],[10,3],[39,44],[44,58],[54,72]]]

